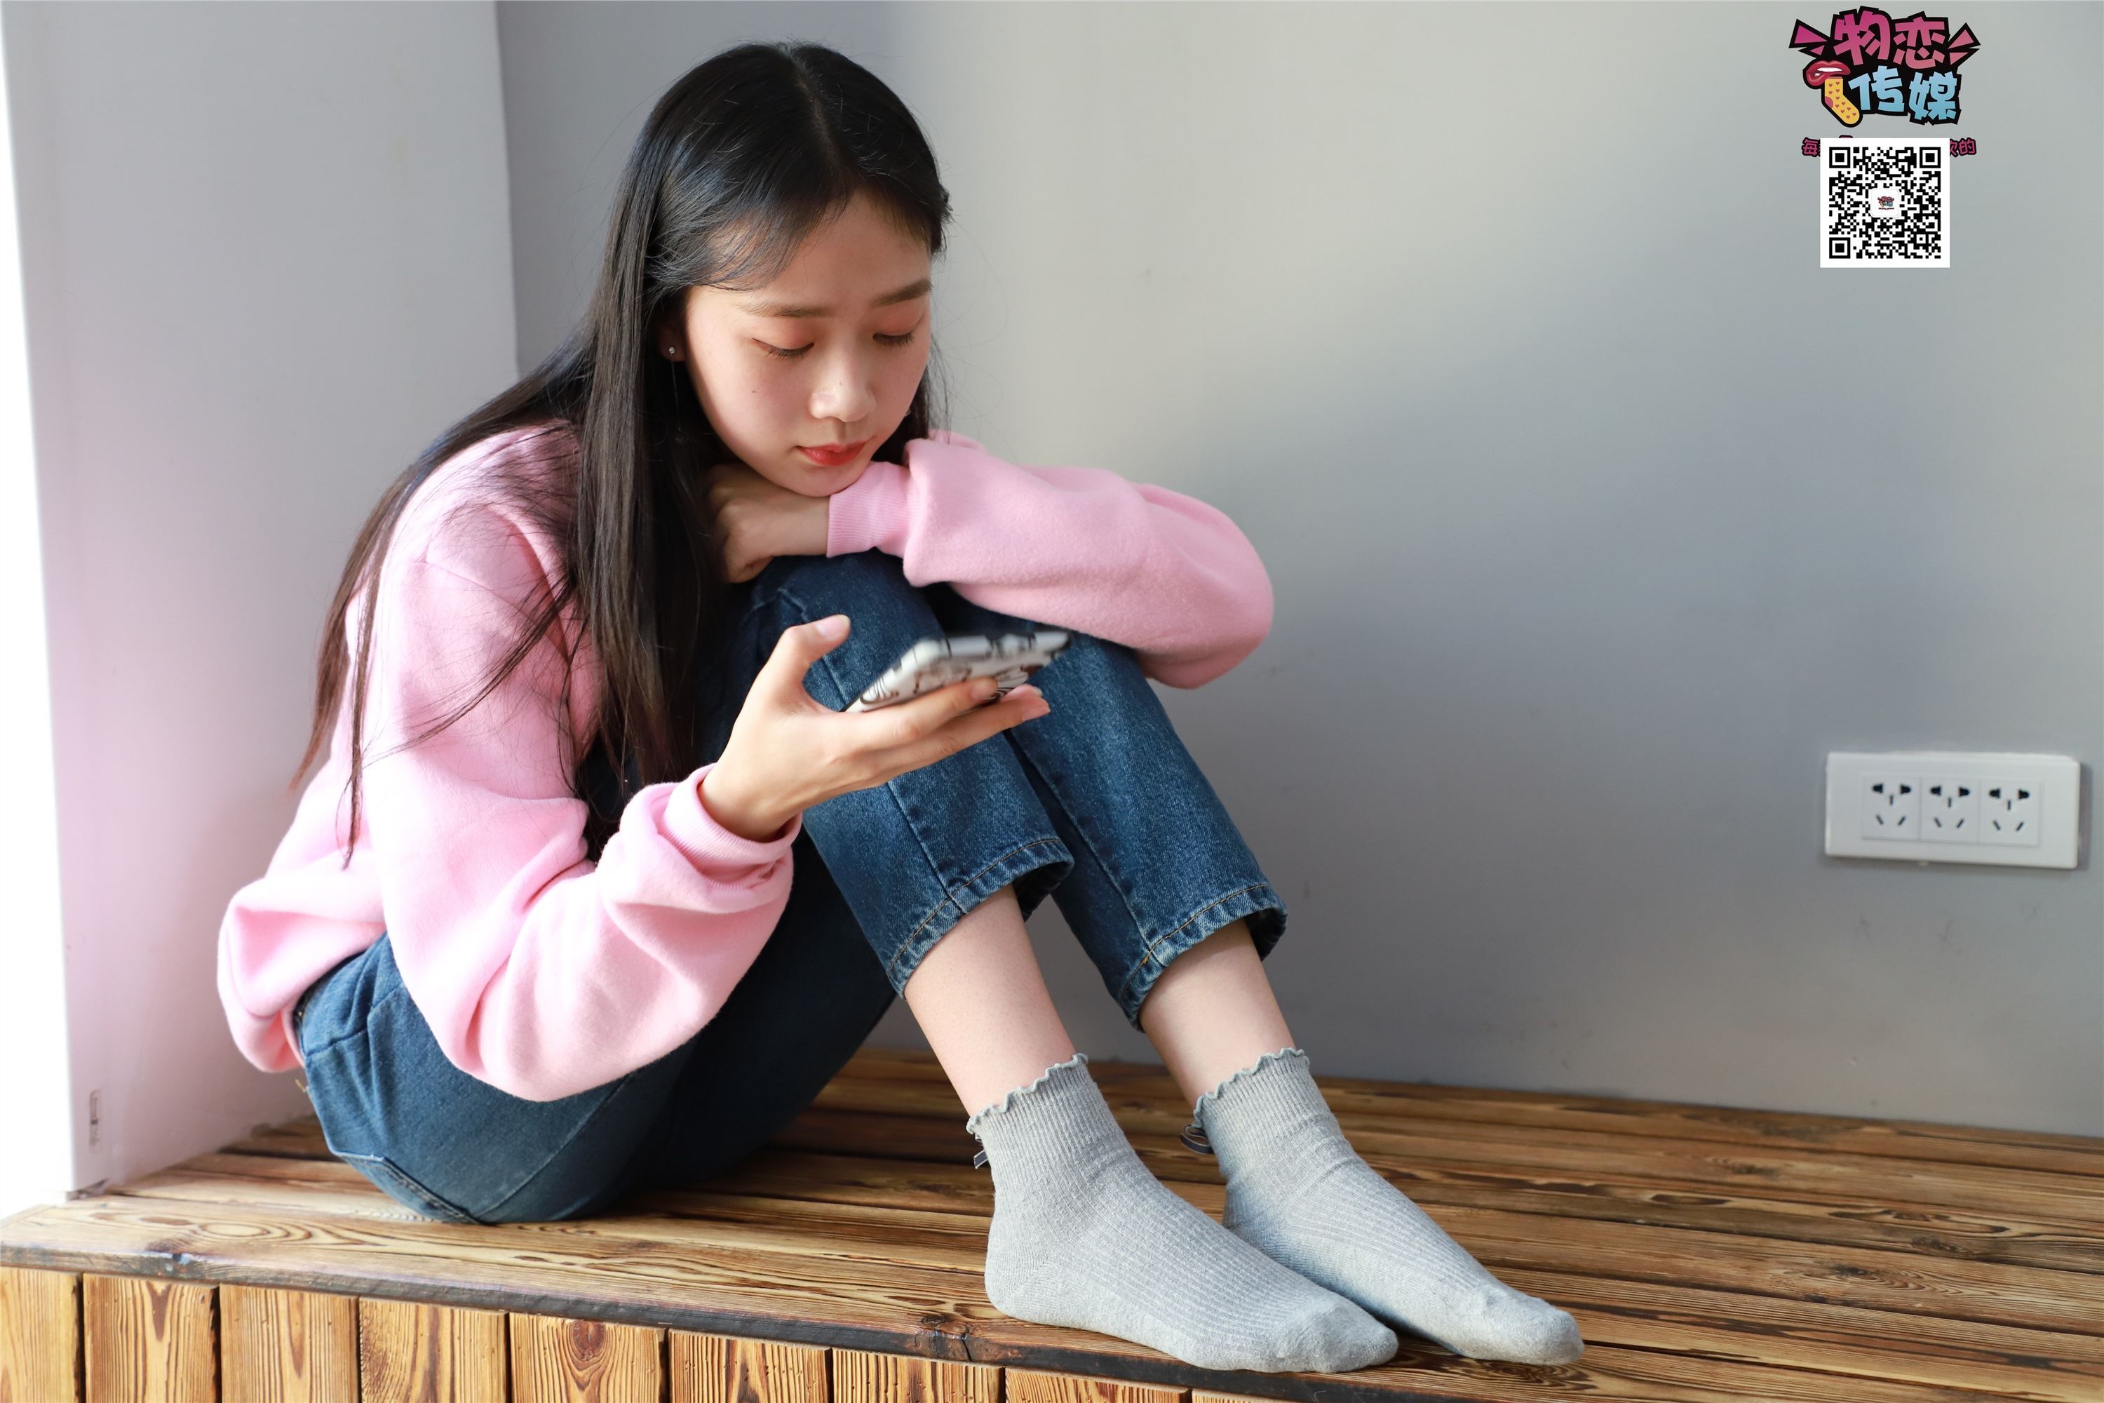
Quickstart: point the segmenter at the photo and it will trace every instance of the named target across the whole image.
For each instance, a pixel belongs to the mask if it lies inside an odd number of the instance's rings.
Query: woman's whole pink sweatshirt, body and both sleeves
[[[242,1054],[288,1071],[292,1005],[389,934],[408,995],[446,1058],[524,1100],[604,1085],[682,1045],[751,968],[789,900],[802,816],[753,841],[701,806],[701,778],[648,785],[598,862],[570,766],[598,728],[598,658],[574,612],[574,730],[558,734],[551,635],[501,688],[419,747],[553,589],[558,543],[471,490],[492,454],[574,465],[576,438],[511,431],[440,465],[381,570],[366,700],[360,835],[349,820],[349,698],[269,869],[219,928],[219,997]],[[913,585],[1132,646],[1142,671],[1195,688],[1271,629],[1271,581],[1218,509],[1096,467],[1020,467],[934,431],[871,463],[827,507],[827,555],[877,547]],[[349,639],[362,616],[353,602]],[[345,644],[349,646],[349,642]]]

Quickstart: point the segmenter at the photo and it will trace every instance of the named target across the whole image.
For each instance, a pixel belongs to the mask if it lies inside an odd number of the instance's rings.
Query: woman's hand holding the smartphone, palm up
[[[739,837],[778,837],[812,804],[875,789],[1052,711],[1027,684],[999,705],[983,705],[993,677],[953,682],[875,711],[833,711],[804,690],[810,665],[848,637],[846,616],[833,618],[844,625],[839,637],[823,637],[816,623],[783,629],[730,724],[724,753],[701,778],[703,808]]]

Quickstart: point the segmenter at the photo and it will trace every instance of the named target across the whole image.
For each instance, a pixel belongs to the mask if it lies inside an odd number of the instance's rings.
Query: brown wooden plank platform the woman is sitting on
[[[1218,1218],[1155,1066],[1092,1062],[1147,1165]],[[774,1144],[551,1224],[414,1218],[309,1119],[0,1224],[0,1401],[2104,1401],[2104,1140],[1319,1077],[1353,1144],[1570,1367],[1433,1346],[1210,1374],[1004,1317],[993,1178],[940,1069],[865,1050]]]

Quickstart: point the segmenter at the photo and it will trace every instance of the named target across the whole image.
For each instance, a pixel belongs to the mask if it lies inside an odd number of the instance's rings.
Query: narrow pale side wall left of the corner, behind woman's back
[[[61,869],[4,942],[63,942],[80,1186],[309,1109],[234,1048],[215,938],[360,522],[518,374],[505,135],[490,4],[0,21]]]

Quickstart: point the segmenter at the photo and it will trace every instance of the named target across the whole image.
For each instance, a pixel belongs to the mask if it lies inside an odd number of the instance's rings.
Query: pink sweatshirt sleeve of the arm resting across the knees
[[[1140,671],[1195,688],[1271,631],[1271,576],[1216,507],[1102,467],[1018,467],[936,431],[871,463],[827,505],[827,555],[898,555],[1002,614],[1126,644]]]

